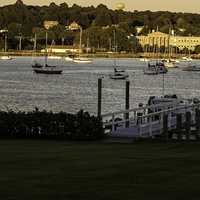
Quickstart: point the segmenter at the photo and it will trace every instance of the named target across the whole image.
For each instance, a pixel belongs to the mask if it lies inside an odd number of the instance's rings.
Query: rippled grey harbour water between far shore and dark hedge
[[[38,58],[41,62],[43,58]],[[199,62],[200,61],[194,61]],[[0,109],[33,110],[35,107],[52,111],[77,112],[80,109],[93,114],[97,111],[97,79],[103,78],[102,112],[124,109],[125,81],[111,80],[112,59],[94,59],[92,64],[73,64],[51,60],[63,69],[62,75],[33,73],[30,57],[0,61]],[[150,95],[162,95],[163,75],[143,74],[144,62],[119,59],[117,65],[126,69],[130,80],[130,105],[146,103]],[[180,64],[183,67],[185,64]],[[182,97],[200,97],[200,72],[172,69],[164,76],[165,93]]]

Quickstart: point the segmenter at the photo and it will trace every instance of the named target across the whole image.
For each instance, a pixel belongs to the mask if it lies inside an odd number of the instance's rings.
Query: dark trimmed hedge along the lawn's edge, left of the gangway
[[[0,111],[0,137],[98,140],[104,130],[100,118],[80,110],[77,114]]]

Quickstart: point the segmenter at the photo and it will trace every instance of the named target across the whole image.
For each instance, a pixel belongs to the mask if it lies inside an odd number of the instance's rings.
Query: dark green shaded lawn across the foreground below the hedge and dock
[[[0,199],[200,199],[200,143],[0,140]]]

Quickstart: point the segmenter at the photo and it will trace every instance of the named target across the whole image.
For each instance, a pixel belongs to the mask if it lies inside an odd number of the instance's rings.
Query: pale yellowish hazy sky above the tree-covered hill
[[[16,0],[0,0],[0,6],[13,4]],[[200,0],[23,0],[29,5],[49,5],[50,2],[60,4],[66,2],[70,6],[73,3],[88,6],[103,3],[109,8],[115,8],[116,3],[123,2],[126,10],[168,10],[178,12],[200,13]]]

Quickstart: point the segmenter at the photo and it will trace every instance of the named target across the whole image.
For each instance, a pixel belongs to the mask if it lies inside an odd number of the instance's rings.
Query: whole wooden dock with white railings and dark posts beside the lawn
[[[102,119],[105,131],[112,137],[197,139],[200,104],[162,103],[107,113]]]

